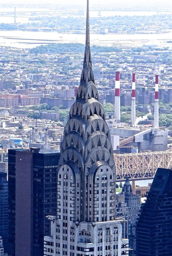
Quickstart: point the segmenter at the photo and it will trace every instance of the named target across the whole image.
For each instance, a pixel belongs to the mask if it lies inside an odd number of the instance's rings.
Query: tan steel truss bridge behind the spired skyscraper
[[[153,179],[158,167],[172,167],[172,151],[114,154],[116,181]]]

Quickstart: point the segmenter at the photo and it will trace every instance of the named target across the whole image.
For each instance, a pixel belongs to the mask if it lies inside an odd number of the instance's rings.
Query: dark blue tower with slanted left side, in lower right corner
[[[158,168],[136,225],[137,256],[172,255],[172,170]]]

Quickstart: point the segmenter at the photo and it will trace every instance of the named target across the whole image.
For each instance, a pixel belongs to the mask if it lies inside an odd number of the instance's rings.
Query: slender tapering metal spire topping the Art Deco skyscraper
[[[83,70],[81,74],[81,82],[85,81],[86,85],[89,81],[94,83],[94,75],[92,70],[91,62],[91,51],[90,51],[90,21],[89,21],[89,0],[87,0],[87,18],[86,18],[86,43],[85,53],[83,59]]]

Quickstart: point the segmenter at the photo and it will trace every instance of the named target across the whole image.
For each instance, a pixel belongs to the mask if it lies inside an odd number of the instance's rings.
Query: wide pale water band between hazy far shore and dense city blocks
[[[91,44],[104,46],[164,46],[172,38],[172,30],[164,34],[90,34]],[[60,34],[57,32],[0,31],[0,46],[33,48],[42,43],[85,43],[84,34]],[[55,41],[54,41],[55,40]],[[34,43],[34,44],[33,44]]]

